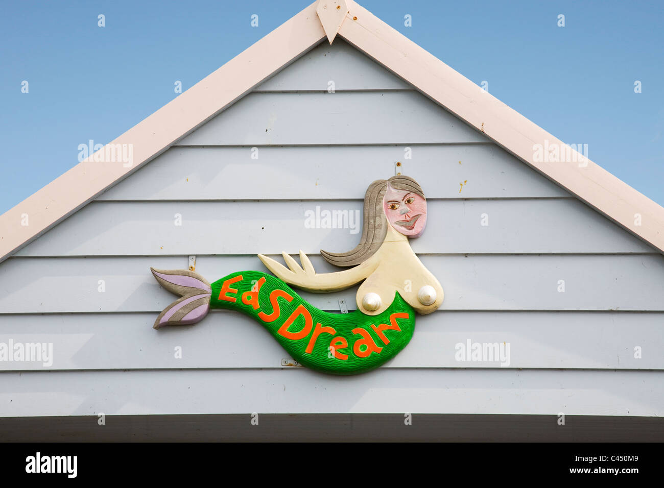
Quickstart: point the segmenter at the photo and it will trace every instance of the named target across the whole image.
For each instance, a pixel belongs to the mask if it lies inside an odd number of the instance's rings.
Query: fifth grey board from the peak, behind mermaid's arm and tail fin
[[[420,260],[442,284],[446,310],[664,310],[660,254],[421,255]],[[321,256],[311,256],[311,262],[319,272],[332,270]],[[173,295],[155,282],[150,266],[183,269],[187,256],[10,258],[0,266],[0,313],[158,314]],[[253,256],[197,256],[196,271],[210,281],[241,270],[264,268]],[[564,292],[558,291],[560,280]],[[356,291],[301,295],[314,307],[333,311],[340,298],[355,309]]]

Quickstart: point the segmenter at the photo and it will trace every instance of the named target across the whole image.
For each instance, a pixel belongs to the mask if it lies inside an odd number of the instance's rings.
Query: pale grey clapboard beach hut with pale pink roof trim
[[[0,216],[0,437],[652,439],[664,209],[577,149],[354,1],[312,3]],[[176,297],[151,268],[335,272],[321,249],[361,242],[398,175],[444,300],[390,361],[303,367],[231,311],[153,329]],[[341,314],[357,289],[298,293]]]

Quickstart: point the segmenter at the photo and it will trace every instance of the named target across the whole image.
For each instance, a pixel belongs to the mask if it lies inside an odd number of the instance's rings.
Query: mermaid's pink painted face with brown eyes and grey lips
[[[382,199],[382,209],[388,222],[408,237],[418,237],[426,226],[426,199],[408,190],[390,185]]]

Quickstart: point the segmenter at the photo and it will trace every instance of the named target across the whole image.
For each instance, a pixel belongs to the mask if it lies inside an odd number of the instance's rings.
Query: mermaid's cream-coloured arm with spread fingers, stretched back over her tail
[[[378,259],[376,254],[374,254],[365,262],[349,270],[317,274],[313,270],[311,261],[309,261],[307,255],[302,251],[299,252],[299,260],[302,263],[301,268],[286,252],[282,253],[282,256],[284,256],[284,261],[286,261],[290,270],[274,259],[268,258],[264,254],[258,254],[258,258],[260,258],[266,268],[278,278],[281,278],[286,283],[309,291],[337,291],[351,287],[367,278],[378,267]]]

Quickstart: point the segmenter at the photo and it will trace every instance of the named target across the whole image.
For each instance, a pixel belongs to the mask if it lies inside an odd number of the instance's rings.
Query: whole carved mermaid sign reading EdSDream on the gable
[[[317,274],[300,251],[301,266],[285,252],[283,266],[258,254],[275,276],[236,272],[211,285],[188,270],[155,270],[165,289],[181,295],[159,314],[154,328],[201,321],[210,307],[237,310],[260,322],[295,361],[333,374],[377,368],[404,349],[415,312],[436,311],[443,289],[408,243],[426,226],[426,199],[406,176],[376,180],[367,189],[362,238],[346,253],[321,250],[327,262],[348,270]],[[309,291],[337,291],[363,282],[357,310],[328,313],[313,307],[288,284]]]

